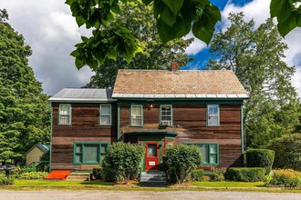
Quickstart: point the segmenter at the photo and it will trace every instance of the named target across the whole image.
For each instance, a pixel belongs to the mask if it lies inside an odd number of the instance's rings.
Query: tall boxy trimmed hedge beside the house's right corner
[[[248,149],[245,155],[248,167],[264,167],[266,171],[265,175],[271,172],[275,151],[269,149]]]

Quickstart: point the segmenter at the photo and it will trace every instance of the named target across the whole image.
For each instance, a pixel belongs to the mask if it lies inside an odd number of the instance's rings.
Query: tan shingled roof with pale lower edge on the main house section
[[[247,98],[229,70],[119,70],[113,98]]]

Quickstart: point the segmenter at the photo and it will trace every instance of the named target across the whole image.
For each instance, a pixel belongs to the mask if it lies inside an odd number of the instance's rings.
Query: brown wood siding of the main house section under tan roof
[[[164,104],[166,105],[166,104]],[[168,104],[167,104],[168,105]],[[175,144],[182,143],[218,143],[219,166],[240,166],[243,164],[241,147],[241,105],[220,105],[220,126],[206,126],[206,105],[172,104],[173,126],[161,127],[160,105],[144,104],[143,126],[130,126],[130,105],[120,104],[120,133],[135,131],[166,130],[178,132]],[[161,140],[162,146],[165,141]],[[162,153],[164,150],[162,150]]]

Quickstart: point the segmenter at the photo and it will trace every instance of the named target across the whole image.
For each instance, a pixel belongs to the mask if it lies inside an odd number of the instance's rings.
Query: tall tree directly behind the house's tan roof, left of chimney
[[[142,51],[137,53],[129,64],[120,56],[115,61],[105,60],[95,71],[96,75],[92,76],[88,87],[112,87],[118,69],[164,69],[170,67],[172,60],[177,60],[179,66],[192,60],[185,54],[185,49],[193,39],[180,38],[166,44],[161,43],[150,5],[136,1],[120,5],[120,9],[120,15],[110,21],[109,26],[120,25],[128,28],[138,39]]]

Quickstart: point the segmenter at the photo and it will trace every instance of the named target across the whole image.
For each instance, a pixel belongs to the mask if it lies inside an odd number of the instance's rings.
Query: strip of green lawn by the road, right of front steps
[[[193,182],[192,185],[200,187],[264,187],[264,182]]]

